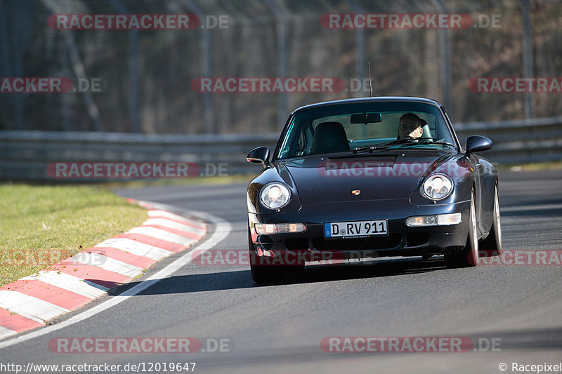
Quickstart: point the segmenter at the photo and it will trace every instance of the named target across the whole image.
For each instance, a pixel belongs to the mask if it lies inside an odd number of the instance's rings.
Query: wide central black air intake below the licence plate
[[[400,245],[402,236],[391,234],[389,236],[360,239],[324,239],[314,238],[314,248],[318,251],[370,251],[373,249],[390,249]]]

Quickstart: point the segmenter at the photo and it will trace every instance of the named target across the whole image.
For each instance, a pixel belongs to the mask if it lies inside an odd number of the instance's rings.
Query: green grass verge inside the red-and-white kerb
[[[0,285],[141,225],[145,209],[92,186],[0,185]]]

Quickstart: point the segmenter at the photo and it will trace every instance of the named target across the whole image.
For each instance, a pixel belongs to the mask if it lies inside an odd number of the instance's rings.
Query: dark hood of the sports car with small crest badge
[[[277,163],[291,176],[301,204],[410,199],[432,171],[454,174],[456,153],[414,151],[329,159],[303,157]],[[454,173],[452,173],[454,172]],[[451,175],[454,176],[454,175]]]

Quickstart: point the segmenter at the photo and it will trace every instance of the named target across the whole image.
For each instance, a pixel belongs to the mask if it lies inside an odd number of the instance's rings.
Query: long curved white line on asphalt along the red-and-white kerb
[[[204,240],[200,246],[197,246],[197,250],[200,251],[200,253],[203,253],[204,251],[209,251],[209,249],[214,248],[214,246],[216,246],[223,239],[225,239],[226,236],[228,236],[228,234],[230,234],[230,231],[232,230],[232,226],[230,225],[230,223],[227,222],[226,220],[223,220],[222,218],[218,218],[214,215],[204,212],[191,212],[191,213],[193,215],[196,215],[197,217],[201,217],[203,220],[206,220],[207,222],[211,222],[216,225],[213,234],[209,236],[207,240]],[[194,256],[194,258],[195,257],[197,256]],[[171,274],[174,274],[174,272],[178,271],[178,269],[181,269],[181,267],[187,265],[189,262],[192,262],[192,260],[193,259],[191,258],[191,251],[189,251],[188,253],[185,253],[185,255],[181,256],[181,258],[178,258],[170,265],[164,267],[164,269],[150,276],[148,279],[141,281],[141,283],[138,283],[136,286],[129,288],[129,290],[126,290],[124,293],[114,296],[110,298],[110,300],[107,300],[106,302],[103,302],[100,305],[97,305],[96,307],[92,307],[91,309],[81,312],[80,314],[72,316],[70,319],[67,319],[66,321],[57,323],[55,325],[49,325],[44,328],[38,328],[36,330],[32,330],[30,333],[18,335],[15,338],[2,341],[0,342],[0,349],[11,347],[12,345],[16,345],[18,343],[25,342],[30,339],[38,338],[39,336],[52,333],[54,331],[60,330],[61,328],[65,328],[67,326],[72,326],[74,325],[74,323],[84,321],[85,319],[89,319],[91,316],[95,316],[96,314],[100,312],[104,312],[105,310],[110,309],[111,307],[115,307],[115,305],[124,302],[125,300],[131,298],[131,296],[141,293],[143,290],[149,288],[150,286],[154,286],[156,283],[166,278],[166,276],[170,276]]]

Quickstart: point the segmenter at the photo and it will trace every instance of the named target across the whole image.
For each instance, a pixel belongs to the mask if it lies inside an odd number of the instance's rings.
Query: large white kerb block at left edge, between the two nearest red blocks
[[[55,316],[70,312],[66,308],[13,290],[0,290],[0,308],[18,313],[39,323],[45,323]]]

